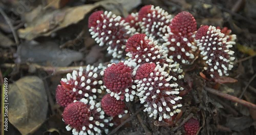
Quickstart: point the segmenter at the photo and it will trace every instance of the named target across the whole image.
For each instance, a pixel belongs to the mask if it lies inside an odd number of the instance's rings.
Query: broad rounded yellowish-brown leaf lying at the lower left
[[[9,85],[9,122],[22,134],[33,133],[47,115],[44,83],[36,76],[26,76]]]

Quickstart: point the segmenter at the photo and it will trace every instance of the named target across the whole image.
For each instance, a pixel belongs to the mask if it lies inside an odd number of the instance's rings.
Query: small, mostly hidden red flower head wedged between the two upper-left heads
[[[125,21],[129,23],[131,28],[134,28],[136,32],[141,33],[140,29],[140,21],[139,21],[139,14],[138,13],[131,13],[126,18]]]

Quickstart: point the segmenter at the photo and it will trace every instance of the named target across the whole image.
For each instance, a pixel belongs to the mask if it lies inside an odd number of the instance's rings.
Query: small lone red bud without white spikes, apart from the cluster
[[[199,120],[190,118],[185,124],[184,124],[184,130],[186,135],[196,135],[197,131],[199,129]]]

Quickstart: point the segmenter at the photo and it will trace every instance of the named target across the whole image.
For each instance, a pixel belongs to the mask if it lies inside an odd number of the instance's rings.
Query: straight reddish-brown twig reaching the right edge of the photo
[[[220,97],[222,97],[222,98],[225,98],[225,99],[227,99],[227,100],[240,103],[240,104],[242,104],[242,105],[244,105],[244,106],[247,106],[247,107],[249,107],[249,108],[252,108],[252,109],[256,109],[256,105],[253,104],[253,103],[250,103],[250,102],[248,102],[248,101],[239,99],[239,98],[234,97],[234,96],[231,96],[231,95],[229,95],[229,94],[222,93],[222,92],[217,91],[216,89],[213,89],[213,88],[204,87],[204,89],[205,89],[207,92],[211,93],[211,94],[215,94],[215,95],[220,96]]]

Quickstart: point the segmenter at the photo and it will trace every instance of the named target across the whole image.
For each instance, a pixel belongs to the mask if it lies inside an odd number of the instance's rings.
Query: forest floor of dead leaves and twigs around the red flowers
[[[62,121],[63,107],[55,99],[60,79],[79,66],[111,59],[106,48],[91,38],[89,16],[106,10],[125,17],[144,5],[159,6],[173,16],[188,11],[198,28],[212,25],[232,30],[237,43],[232,48],[236,62],[230,77],[237,81],[219,84],[217,91],[200,71],[189,71],[195,68],[191,65],[185,71],[193,89],[183,97],[186,109],[175,125],[157,124],[137,100],[126,104],[133,115],[110,134],[184,134],[183,124],[192,117],[200,120],[198,134],[256,134],[254,0],[5,0],[0,2],[0,84],[7,78],[10,85],[7,134],[71,134]]]

